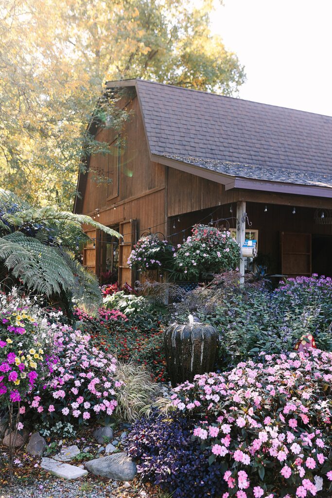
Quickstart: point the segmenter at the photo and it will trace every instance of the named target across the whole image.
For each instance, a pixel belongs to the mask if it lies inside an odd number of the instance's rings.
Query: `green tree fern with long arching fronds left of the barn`
[[[0,190],[0,261],[27,289],[70,296],[91,309],[102,296],[96,275],[75,256],[76,246],[89,241],[82,225],[120,237],[89,216],[34,208]]]

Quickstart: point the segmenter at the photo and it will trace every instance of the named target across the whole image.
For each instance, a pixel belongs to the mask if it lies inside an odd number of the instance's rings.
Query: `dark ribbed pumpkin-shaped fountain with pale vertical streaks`
[[[215,366],[217,332],[205,323],[179,325],[173,323],[165,331],[167,370],[172,386],[189,380],[201,373],[211,372]]]

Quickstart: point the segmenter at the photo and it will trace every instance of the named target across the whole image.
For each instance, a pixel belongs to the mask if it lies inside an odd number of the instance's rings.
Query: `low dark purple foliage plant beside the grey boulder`
[[[179,412],[153,410],[135,422],[126,449],[137,462],[143,481],[159,486],[174,498],[214,498],[224,489],[220,462],[209,464],[209,452],[193,441],[193,420]]]

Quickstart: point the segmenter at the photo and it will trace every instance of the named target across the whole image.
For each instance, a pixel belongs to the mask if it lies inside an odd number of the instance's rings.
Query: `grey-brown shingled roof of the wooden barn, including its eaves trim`
[[[332,197],[332,117],[144,80],[134,86],[151,157],[225,184]]]

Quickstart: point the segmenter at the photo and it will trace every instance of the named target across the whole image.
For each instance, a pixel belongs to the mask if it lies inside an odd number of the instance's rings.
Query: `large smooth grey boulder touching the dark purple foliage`
[[[131,481],[137,473],[136,464],[127,457],[126,453],[115,453],[90,460],[85,463],[85,468],[96,476],[107,477],[114,481]]]

